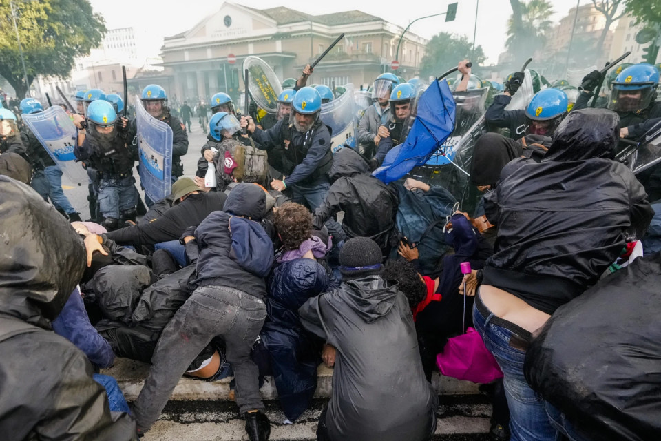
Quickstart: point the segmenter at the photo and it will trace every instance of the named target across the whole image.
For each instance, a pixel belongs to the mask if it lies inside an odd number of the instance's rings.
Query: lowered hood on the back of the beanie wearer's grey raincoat
[[[342,285],[348,294],[346,302],[367,323],[388,314],[397,300],[397,283],[387,283],[379,276],[358,278]]]

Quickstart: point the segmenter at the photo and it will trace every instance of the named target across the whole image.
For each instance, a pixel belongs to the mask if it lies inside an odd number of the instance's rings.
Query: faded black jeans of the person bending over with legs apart
[[[167,324],[158,340],[145,387],[134,406],[138,429],[158,419],[179,379],[211,339],[225,341],[234,368],[236,404],[240,413],[262,410],[259,372],[250,352],[266,318],[266,305],[255,296],[230,287],[199,287]]]

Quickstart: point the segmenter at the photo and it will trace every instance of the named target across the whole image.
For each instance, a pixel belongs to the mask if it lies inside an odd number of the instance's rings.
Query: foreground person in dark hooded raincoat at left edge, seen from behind
[[[3,439],[134,440],[126,413],[111,413],[85,354],[51,322],[85,268],[81,239],[28,185],[0,176],[0,400]],[[44,369],[47,366],[48,369]]]

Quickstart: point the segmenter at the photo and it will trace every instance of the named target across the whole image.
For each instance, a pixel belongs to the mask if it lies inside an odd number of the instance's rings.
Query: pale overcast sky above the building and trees
[[[275,6],[286,6],[300,10],[308,14],[330,14],[345,10],[359,9],[368,14],[376,15],[387,21],[405,27],[418,17],[445,12],[448,3],[455,0],[441,0],[434,2],[435,6],[429,6],[432,2],[428,0],[406,0],[398,2],[406,4],[406,7],[388,7],[388,1],[370,0],[357,2],[355,0],[333,0],[333,1],[293,1],[293,0],[260,0],[255,3],[233,3],[245,4],[252,8],[273,8]],[[422,19],[411,26],[411,31],[421,37],[430,38],[438,32],[452,32],[464,34],[472,39],[475,23],[475,9],[479,0],[459,0],[457,8],[457,19],[452,23],[445,23],[445,17],[431,17]],[[163,37],[178,34],[190,29],[208,14],[216,12],[222,1],[209,0],[182,0],[179,8],[171,5],[174,1],[156,0],[90,0],[94,12],[101,13],[105,17],[107,27],[124,28],[132,26],[138,34],[138,42],[141,56],[154,57],[158,55],[162,45]],[[553,0],[555,14],[554,22],[567,15],[569,9],[576,6],[576,0]],[[589,4],[591,0],[580,0],[581,5]],[[390,3],[392,4],[392,3]],[[499,53],[505,50],[505,31],[507,19],[512,14],[512,8],[508,0],[481,0],[477,17],[476,45],[482,45],[487,55],[487,64],[496,63]],[[614,29],[614,26],[613,26]],[[147,33],[140,36],[140,34]]]

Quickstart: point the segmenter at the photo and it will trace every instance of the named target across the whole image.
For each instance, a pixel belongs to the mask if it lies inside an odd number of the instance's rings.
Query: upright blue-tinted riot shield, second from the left
[[[140,182],[152,201],[169,195],[172,188],[172,129],[151,116],[136,97]]]

